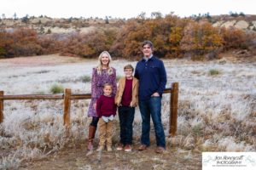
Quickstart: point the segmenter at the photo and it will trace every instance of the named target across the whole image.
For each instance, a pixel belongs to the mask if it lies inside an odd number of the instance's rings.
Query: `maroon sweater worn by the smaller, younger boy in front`
[[[97,99],[96,113],[99,117],[111,115],[115,116],[116,105],[114,104],[114,98],[101,95],[101,97]]]

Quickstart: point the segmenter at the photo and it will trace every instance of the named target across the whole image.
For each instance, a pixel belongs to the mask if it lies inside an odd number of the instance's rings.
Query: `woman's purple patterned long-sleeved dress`
[[[94,104],[96,104],[96,100],[101,97],[103,94],[103,85],[105,83],[110,83],[113,86],[112,96],[116,94],[116,70],[112,67],[113,74],[108,75],[107,69],[102,69],[102,74],[97,74],[97,69],[92,69],[92,78],[91,78],[91,100],[90,106],[88,110],[88,116],[96,116],[96,110],[94,108]]]

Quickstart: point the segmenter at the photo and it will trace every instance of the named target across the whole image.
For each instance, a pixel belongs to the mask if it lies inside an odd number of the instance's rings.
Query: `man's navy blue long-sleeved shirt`
[[[166,69],[162,60],[151,57],[137,62],[135,75],[139,80],[139,99],[150,99],[155,92],[162,96],[166,88]]]

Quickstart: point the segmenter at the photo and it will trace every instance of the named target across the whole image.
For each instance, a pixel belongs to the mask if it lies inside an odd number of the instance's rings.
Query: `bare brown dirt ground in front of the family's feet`
[[[138,144],[135,145],[137,147]],[[20,169],[115,169],[115,170],[149,170],[149,169],[201,169],[201,153],[178,148],[167,148],[162,155],[154,153],[154,145],[148,150],[113,150],[113,152],[85,150],[85,144],[79,147],[68,147],[55,156],[44,160],[26,163]]]

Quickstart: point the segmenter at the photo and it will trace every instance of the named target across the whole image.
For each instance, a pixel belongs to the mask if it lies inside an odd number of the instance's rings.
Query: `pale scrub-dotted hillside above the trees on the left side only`
[[[14,31],[17,28],[31,28],[40,34],[50,33],[87,33],[96,27],[119,27],[125,23],[121,19],[52,19],[46,16],[42,17],[23,17],[20,19],[2,19],[0,20],[0,28],[6,31]]]

